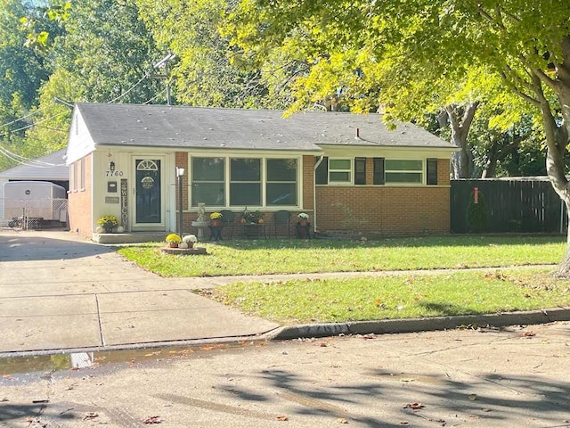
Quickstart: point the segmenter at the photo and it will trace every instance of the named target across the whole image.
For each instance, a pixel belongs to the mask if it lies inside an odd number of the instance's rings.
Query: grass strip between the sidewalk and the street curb
[[[236,283],[205,292],[284,325],[488,314],[570,306],[552,269]]]

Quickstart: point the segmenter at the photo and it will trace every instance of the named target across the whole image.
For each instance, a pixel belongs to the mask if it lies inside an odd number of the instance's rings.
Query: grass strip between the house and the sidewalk
[[[200,243],[207,256],[172,256],[162,244],[119,252],[160,276],[228,276],[435,268],[487,268],[558,263],[564,237],[444,236],[369,242],[257,240]]]

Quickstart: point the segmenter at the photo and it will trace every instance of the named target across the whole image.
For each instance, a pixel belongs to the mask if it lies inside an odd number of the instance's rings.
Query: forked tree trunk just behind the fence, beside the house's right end
[[[472,156],[468,150],[467,136],[478,105],[479,103],[451,104],[445,107],[452,128],[451,143],[460,148],[452,156],[452,178],[470,177]]]

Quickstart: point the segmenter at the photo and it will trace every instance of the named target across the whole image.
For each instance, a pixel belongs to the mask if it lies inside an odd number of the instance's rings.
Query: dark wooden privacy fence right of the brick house
[[[485,198],[487,232],[566,233],[566,208],[546,177],[452,180],[451,232],[468,233],[467,210],[474,188]]]

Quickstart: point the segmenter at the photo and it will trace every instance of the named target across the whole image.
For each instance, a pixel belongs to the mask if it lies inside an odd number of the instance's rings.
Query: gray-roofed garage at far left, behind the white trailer
[[[22,162],[20,165],[0,172],[0,226],[5,226],[4,183],[9,181],[49,181],[69,188],[69,167],[65,163],[66,149],[61,149],[40,158]]]

